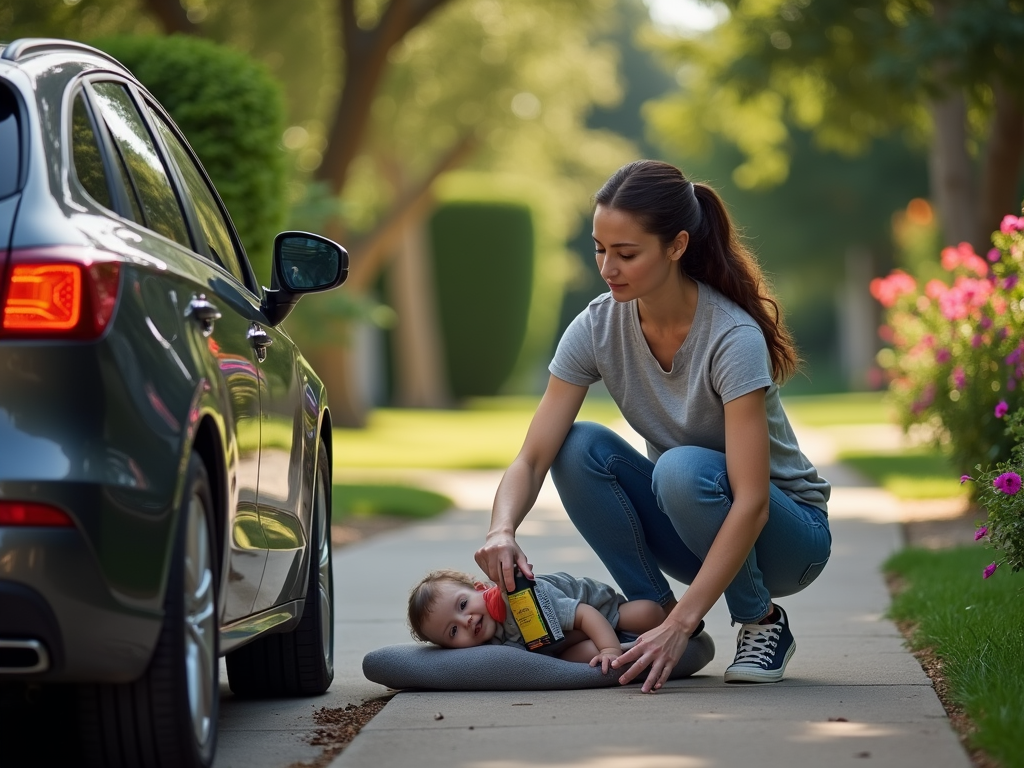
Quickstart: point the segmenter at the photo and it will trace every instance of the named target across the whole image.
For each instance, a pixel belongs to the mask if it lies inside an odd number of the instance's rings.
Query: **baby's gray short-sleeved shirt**
[[[537,578],[534,581],[534,588],[542,610],[554,613],[552,624],[557,624],[563,633],[569,632],[575,624],[575,609],[580,603],[592,605],[601,611],[612,629],[618,627],[618,606],[626,602],[626,598],[607,584],[589,577],[578,579],[563,571],[535,575]],[[507,611],[505,624],[498,628],[490,642],[496,645],[516,645],[525,648],[526,643],[522,639],[522,633],[519,632],[519,626],[512,616],[509,596],[503,592],[502,597],[505,598]],[[557,633],[555,634],[557,638]]]

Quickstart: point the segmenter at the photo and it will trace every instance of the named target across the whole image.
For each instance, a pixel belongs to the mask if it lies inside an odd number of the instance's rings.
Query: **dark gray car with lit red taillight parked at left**
[[[348,256],[273,248],[262,289],[116,60],[0,44],[0,693],[59,691],[76,764],[210,765],[220,655],[240,694],[333,680],[331,419],[280,324]]]

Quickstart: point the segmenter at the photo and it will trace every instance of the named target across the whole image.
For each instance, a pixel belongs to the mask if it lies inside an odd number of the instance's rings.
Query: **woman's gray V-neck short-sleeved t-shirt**
[[[548,370],[563,381],[603,381],[623,417],[656,462],[678,445],[725,453],[725,403],[764,388],[771,481],[792,499],[827,512],[828,482],[800,451],[771,379],[761,328],[736,303],[697,283],[686,341],[665,371],[640,330],[637,302],[610,293],[590,302],[558,342]]]

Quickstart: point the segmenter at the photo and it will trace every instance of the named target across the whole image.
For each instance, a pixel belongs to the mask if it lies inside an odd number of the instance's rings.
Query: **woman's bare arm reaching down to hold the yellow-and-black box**
[[[569,384],[556,376],[548,379],[548,388],[534,414],[522,449],[498,485],[490,529],[475,557],[487,578],[504,584],[509,592],[515,589],[514,564],[525,575],[534,575],[525,553],[516,544],[515,531],[537,502],[544,478],[586,396],[587,387]]]

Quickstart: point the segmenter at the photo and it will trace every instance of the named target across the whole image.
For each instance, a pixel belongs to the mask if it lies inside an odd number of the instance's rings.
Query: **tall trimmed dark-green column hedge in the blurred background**
[[[529,207],[446,203],[430,233],[452,392],[497,394],[526,337],[536,260]]]

